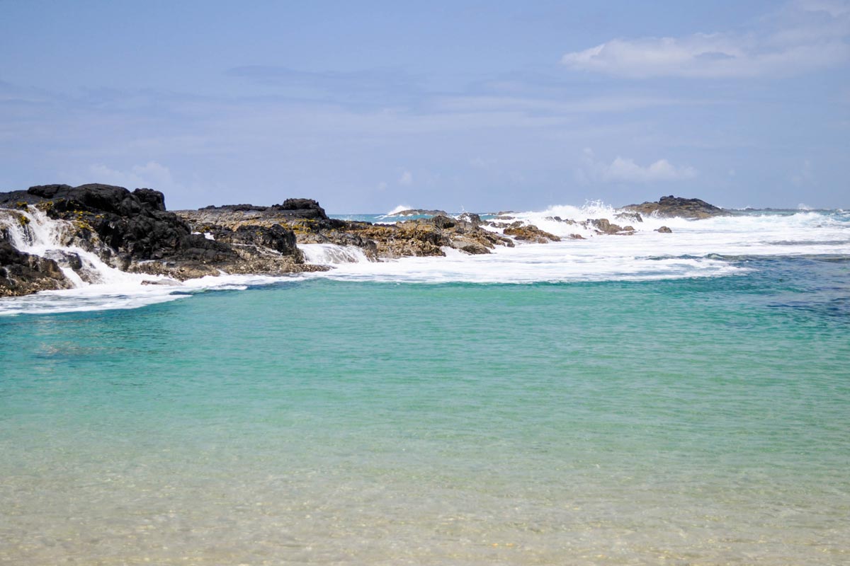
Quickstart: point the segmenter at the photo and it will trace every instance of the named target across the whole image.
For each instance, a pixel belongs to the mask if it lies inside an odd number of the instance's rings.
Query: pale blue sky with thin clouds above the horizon
[[[850,208],[850,1],[0,0],[0,190]]]

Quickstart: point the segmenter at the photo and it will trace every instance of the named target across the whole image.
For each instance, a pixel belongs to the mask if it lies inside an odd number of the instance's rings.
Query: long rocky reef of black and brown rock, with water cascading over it
[[[561,240],[510,213],[488,221],[477,214],[450,216],[442,210],[405,210],[399,215],[405,213],[429,217],[393,224],[346,221],[327,216],[313,199],[168,211],[159,191],[131,192],[103,184],[40,185],[0,193],[0,296],[100,283],[97,262],[156,276],[150,283],[157,283],[161,277],[184,280],[222,272],[280,275],[329,269],[306,263],[299,244],[337,244],[360,249],[361,258],[382,261],[445,255],[446,249],[489,254],[497,246]],[[643,222],[642,215],[719,214],[725,211],[703,200],[670,196],[617,211],[614,219],[624,226],[608,218],[546,220],[575,226],[585,235],[566,237],[585,239],[594,234],[631,235],[632,224]],[[667,227],[658,231],[671,232]]]

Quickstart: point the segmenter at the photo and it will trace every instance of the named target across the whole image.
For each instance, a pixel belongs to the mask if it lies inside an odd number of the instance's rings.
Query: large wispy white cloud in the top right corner
[[[850,3],[809,0],[786,6],[768,30],[612,39],[561,62],[613,76],[689,78],[791,76],[850,61]]]

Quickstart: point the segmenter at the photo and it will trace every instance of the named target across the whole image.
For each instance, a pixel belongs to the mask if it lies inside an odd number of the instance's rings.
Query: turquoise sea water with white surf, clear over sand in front
[[[0,564],[850,563],[850,214],[304,249],[0,300]]]

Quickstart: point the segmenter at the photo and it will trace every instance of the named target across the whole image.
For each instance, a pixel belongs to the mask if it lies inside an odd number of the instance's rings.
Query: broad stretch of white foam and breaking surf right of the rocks
[[[643,222],[617,219],[620,210],[592,202],[583,207],[553,206],[514,213],[564,238],[551,244],[497,246],[490,255],[444,250],[446,257],[337,265],[309,277],[411,283],[536,283],[639,281],[683,277],[721,277],[744,273],[740,263],[723,256],[850,255],[850,217],[820,212],[750,213],[705,220],[644,216]],[[632,235],[600,235],[592,228],[563,221],[608,218],[631,225]],[[672,233],[658,233],[666,226]],[[587,239],[572,239],[577,233]]]

